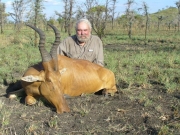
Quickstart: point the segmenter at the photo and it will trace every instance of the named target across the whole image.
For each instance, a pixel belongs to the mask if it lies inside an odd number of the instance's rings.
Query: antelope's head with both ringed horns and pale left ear
[[[51,104],[56,107],[57,113],[69,112],[70,109],[64,99],[63,92],[61,91],[60,84],[60,73],[58,69],[58,57],[57,57],[57,47],[60,43],[60,33],[57,28],[50,25],[54,30],[55,41],[51,48],[50,53],[45,49],[45,34],[42,30],[27,24],[27,26],[34,29],[40,37],[39,40],[39,51],[41,53],[43,71],[40,72],[38,76],[25,76],[22,78],[23,81],[36,82],[40,81],[41,85],[39,91],[42,96],[44,96]]]

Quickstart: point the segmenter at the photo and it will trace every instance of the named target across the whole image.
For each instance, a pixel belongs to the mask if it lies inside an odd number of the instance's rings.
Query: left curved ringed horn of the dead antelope
[[[42,62],[48,62],[48,61],[52,60],[51,55],[47,52],[46,48],[44,47],[45,38],[46,38],[44,32],[30,24],[26,24],[26,25],[31,27],[32,29],[34,29],[39,34],[39,37],[40,37],[39,51],[41,53]]]

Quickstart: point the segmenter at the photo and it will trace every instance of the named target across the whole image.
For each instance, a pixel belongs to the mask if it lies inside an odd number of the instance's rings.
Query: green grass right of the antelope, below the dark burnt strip
[[[168,47],[168,46],[166,46]],[[111,69],[117,82],[149,86],[153,82],[165,85],[167,92],[180,88],[179,50],[126,46],[125,50],[105,51],[107,68]]]

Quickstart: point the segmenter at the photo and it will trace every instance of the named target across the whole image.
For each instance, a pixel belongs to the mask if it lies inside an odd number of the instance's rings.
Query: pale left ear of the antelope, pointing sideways
[[[44,78],[42,76],[36,76],[36,75],[28,75],[28,76],[24,76],[21,78],[21,80],[25,81],[25,82],[44,82]]]

